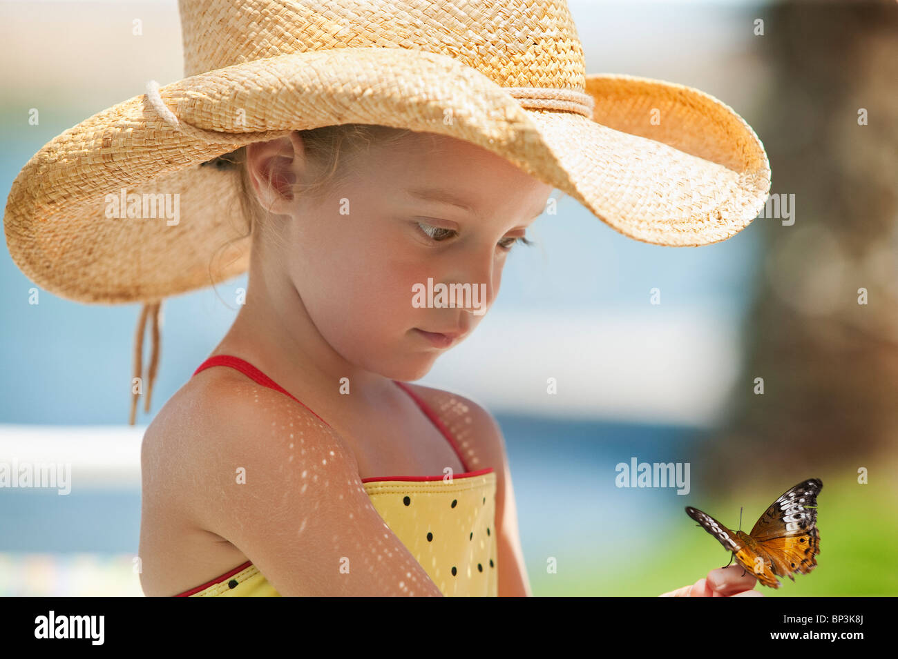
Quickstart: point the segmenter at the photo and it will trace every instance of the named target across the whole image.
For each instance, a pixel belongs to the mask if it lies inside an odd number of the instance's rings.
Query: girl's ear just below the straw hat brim
[[[246,168],[259,203],[268,212],[286,215],[294,186],[304,170],[303,138],[297,131],[246,147]]]

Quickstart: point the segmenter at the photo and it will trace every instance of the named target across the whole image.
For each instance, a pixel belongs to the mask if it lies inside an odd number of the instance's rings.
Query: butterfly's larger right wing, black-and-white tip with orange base
[[[820,531],[817,529],[817,495],[823,482],[813,478],[798,483],[774,501],[749,535],[776,565],[774,573],[795,581],[793,572],[807,574],[817,565]]]

